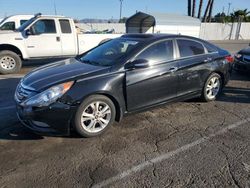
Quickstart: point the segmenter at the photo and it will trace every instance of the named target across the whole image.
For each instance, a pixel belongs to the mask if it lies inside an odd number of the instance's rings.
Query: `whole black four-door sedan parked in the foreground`
[[[181,35],[128,34],[27,74],[15,93],[20,121],[38,133],[103,133],[126,114],[201,97],[229,79],[230,54]]]

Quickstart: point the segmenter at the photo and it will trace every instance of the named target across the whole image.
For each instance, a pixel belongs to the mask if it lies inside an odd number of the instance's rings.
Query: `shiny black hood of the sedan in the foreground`
[[[42,91],[59,83],[101,76],[109,70],[109,67],[94,66],[71,58],[31,71],[22,79],[22,84],[31,90]]]

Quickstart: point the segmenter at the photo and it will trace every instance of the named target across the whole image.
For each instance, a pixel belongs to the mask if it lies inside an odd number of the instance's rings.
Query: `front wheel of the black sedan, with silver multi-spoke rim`
[[[95,110],[96,107],[98,111]],[[92,95],[79,106],[75,114],[74,128],[83,137],[98,136],[114,123],[115,115],[114,103],[108,97]]]

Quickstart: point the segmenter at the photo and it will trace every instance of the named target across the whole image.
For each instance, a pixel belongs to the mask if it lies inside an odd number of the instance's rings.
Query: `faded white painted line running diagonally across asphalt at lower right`
[[[116,175],[116,176],[113,176],[111,178],[108,178],[100,183],[97,183],[95,184],[93,187],[94,188],[97,188],[97,187],[104,187],[104,186],[108,186],[116,181],[119,181],[119,180],[122,180],[124,178],[127,178],[129,176],[132,176],[133,174],[137,173],[137,172],[140,172],[142,170],[144,170],[145,168],[149,167],[149,166],[152,166],[153,164],[157,164],[157,163],[160,163],[162,161],[165,161],[171,157],[174,157],[182,152],[185,152],[185,151],[188,151],[190,149],[192,149],[193,147],[199,145],[199,144],[202,144],[204,142],[207,142],[208,140],[216,137],[216,136],[220,136],[220,135],[223,135],[225,133],[227,133],[228,131],[232,130],[232,129],[235,129],[237,127],[239,127],[240,125],[243,125],[247,122],[250,122],[250,118],[247,118],[245,120],[242,120],[242,121],[239,121],[239,122],[236,122],[234,124],[231,124],[231,125],[228,125],[227,127],[225,127],[224,129],[221,129],[219,130],[218,132],[216,133],[213,133],[213,134],[210,134],[208,136],[205,136],[205,137],[202,137],[194,142],[191,142],[189,144],[186,144],[174,151],[170,151],[168,153],[165,153],[165,154],[162,154],[162,155],[159,155],[158,157],[155,157],[155,158],[152,158],[150,160],[147,160],[139,165],[136,165],[136,166],[133,166],[132,168],[126,170],[126,171],[123,171],[121,172],[120,174]]]

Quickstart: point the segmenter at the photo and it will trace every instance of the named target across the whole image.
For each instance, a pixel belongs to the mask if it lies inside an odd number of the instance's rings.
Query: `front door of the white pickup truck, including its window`
[[[55,19],[38,19],[29,28],[25,38],[29,57],[53,57],[62,55],[61,40]]]

